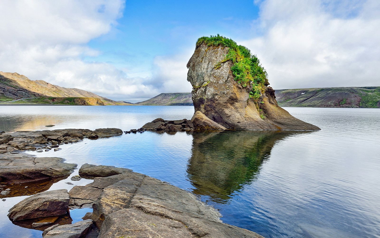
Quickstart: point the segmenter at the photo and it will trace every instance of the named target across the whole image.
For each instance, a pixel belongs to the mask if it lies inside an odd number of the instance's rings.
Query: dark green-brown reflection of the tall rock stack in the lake
[[[304,132],[305,133],[305,132]],[[193,193],[225,203],[230,195],[254,180],[276,141],[295,132],[225,131],[194,133],[187,166]]]

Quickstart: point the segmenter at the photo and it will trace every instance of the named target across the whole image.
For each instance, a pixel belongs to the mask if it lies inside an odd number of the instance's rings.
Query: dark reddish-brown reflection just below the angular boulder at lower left
[[[34,229],[34,230],[42,230],[42,231],[55,224],[67,225],[67,224],[71,224],[71,222],[73,222],[73,219],[71,219],[69,212],[67,212],[67,214],[64,216],[59,216],[59,217],[46,217],[46,218],[38,218],[38,219],[25,219],[25,220],[12,221],[13,224],[18,225],[20,227]]]

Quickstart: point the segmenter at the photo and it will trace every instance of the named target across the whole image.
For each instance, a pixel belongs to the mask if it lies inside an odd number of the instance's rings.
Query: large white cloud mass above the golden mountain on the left
[[[124,72],[85,62],[99,52],[86,46],[116,25],[122,0],[3,1],[0,8],[0,70],[113,96],[132,91]],[[119,96],[120,96],[119,95]]]

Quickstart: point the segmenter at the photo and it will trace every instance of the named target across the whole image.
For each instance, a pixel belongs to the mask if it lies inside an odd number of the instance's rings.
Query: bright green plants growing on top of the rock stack
[[[218,62],[214,69],[221,67],[222,63],[232,61],[231,72],[234,75],[234,80],[240,83],[243,87],[249,86],[252,88],[249,92],[249,97],[257,102],[261,94],[265,91],[265,86],[268,83],[268,73],[260,64],[260,60],[255,54],[242,45],[237,45],[232,39],[218,35],[210,37],[201,37],[196,42],[196,47],[206,44],[209,47],[222,46],[228,47],[228,53],[225,59]]]

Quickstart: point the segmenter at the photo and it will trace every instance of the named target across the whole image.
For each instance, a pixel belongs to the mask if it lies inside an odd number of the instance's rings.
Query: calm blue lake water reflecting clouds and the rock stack
[[[380,237],[380,110],[285,108],[314,132],[123,134],[36,153],[68,163],[114,165],[165,180],[217,208],[223,222],[264,237]],[[193,107],[0,106],[0,130],[140,128]],[[73,175],[78,174],[78,170]],[[61,180],[50,190],[92,180]],[[41,237],[6,214],[26,196],[0,201],[0,236]],[[82,211],[81,211],[82,210]],[[73,222],[89,211],[71,211]]]

